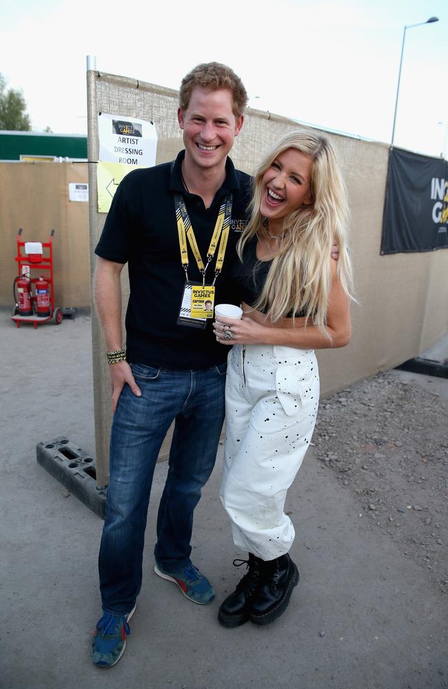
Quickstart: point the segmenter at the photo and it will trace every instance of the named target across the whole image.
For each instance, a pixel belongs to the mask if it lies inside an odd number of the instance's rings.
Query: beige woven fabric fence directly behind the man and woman
[[[89,161],[98,160],[97,114],[153,121],[159,137],[157,163],[170,161],[182,148],[177,123],[177,92],[121,76],[88,72]],[[263,153],[298,123],[250,110],[236,138],[232,160],[252,173]],[[332,135],[352,209],[352,250],[359,305],[353,307],[353,339],[344,349],[319,351],[323,395],[340,390],[380,369],[396,366],[433,345],[448,329],[448,251],[380,256],[388,147]],[[96,212],[96,169],[90,163],[90,241],[101,233],[104,216]],[[92,265],[93,269],[93,265]],[[123,309],[128,296],[123,276]],[[96,456],[99,483],[107,482],[110,402],[104,342],[92,319]],[[170,434],[161,455],[169,449]]]

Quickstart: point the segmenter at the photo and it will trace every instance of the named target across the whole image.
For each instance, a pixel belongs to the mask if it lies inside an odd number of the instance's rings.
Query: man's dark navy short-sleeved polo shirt
[[[126,312],[128,361],[156,368],[206,369],[220,364],[229,351],[219,345],[212,322],[205,329],[177,325],[185,285],[174,193],[183,194],[203,262],[210,245],[219,206],[232,192],[232,222],[223,270],[216,280],[215,304],[238,304],[231,278],[238,260],[236,242],[247,223],[250,201],[249,175],[234,168],[230,158],[226,177],[210,208],[196,194],[187,194],[181,178],[181,151],[171,163],[136,169],[116,190],[95,254],[116,263],[128,263],[130,299]],[[207,282],[214,278],[216,255],[207,268]],[[188,246],[188,278],[202,281]]]

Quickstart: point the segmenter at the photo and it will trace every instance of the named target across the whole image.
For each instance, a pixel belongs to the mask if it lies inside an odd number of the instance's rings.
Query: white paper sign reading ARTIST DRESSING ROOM
[[[157,134],[152,122],[101,112],[98,132],[99,161],[143,167],[156,164]]]

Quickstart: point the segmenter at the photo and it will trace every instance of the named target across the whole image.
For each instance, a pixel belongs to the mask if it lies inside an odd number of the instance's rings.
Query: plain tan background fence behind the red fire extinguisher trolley
[[[19,227],[27,242],[48,242],[54,229],[54,304],[90,306],[88,203],[68,200],[68,184],[87,179],[87,163],[0,163],[1,306],[13,307]]]

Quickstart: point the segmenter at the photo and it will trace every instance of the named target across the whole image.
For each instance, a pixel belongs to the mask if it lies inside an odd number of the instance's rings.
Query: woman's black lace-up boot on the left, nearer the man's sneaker
[[[256,594],[260,579],[262,560],[252,553],[249,553],[248,560],[234,559],[234,566],[241,567],[242,564],[247,566],[247,573],[245,573],[241,582],[237,584],[236,589],[231,593],[219,608],[218,621],[224,627],[238,627],[250,619],[249,606],[252,597]]]

